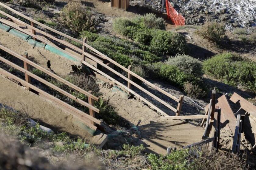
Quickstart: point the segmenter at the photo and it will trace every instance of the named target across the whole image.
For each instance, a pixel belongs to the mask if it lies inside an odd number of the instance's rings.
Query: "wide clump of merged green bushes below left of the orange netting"
[[[163,27],[164,22],[157,19],[154,14],[133,19],[116,18],[113,21],[114,32],[140,43],[151,53],[156,55],[185,53],[185,37],[176,32],[161,30]]]

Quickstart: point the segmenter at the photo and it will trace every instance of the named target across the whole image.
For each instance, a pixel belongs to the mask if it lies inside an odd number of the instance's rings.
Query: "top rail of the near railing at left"
[[[55,78],[56,80],[59,80],[60,82],[66,84],[67,86],[69,86],[69,87],[71,87],[71,88],[73,88],[73,89],[75,89],[75,90],[77,90],[77,91],[79,91],[79,92],[85,94],[86,96],[91,97],[92,99],[94,99],[94,100],[96,100],[96,101],[99,100],[98,97],[96,97],[96,96],[90,94],[89,92],[87,92],[87,91],[81,89],[80,87],[75,86],[74,84],[70,83],[69,81],[67,81],[67,80],[65,80],[65,79],[63,79],[63,78],[57,76],[56,74],[52,73],[51,71],[48,71],[48,70],[44,69],[43,67],[41,67],[41,66],[37,65],[36,63],[34,63],[34,62],[32,62],[32,61],[30,61],[30,60],[28,60],[28,59],[26,59],[26,58],[20,56],[19,54],[15,53],[15,52],[13,52],[13,51],[11,51],[11,50],[9,50],[8,48],[6,48],[6,47],[0,45],[0,49],[2,49],[2,50],[4,50],[5,52],[7,52],[7,53],[9,53],[9,54],[11,54],[11,55],[17,57],[17,58],[20,59],[20,60],[25,61],[26,63],[30,64],[31,66],[37,68],[38,70],[41,70],[42,72],[48,74],[49,76]]]

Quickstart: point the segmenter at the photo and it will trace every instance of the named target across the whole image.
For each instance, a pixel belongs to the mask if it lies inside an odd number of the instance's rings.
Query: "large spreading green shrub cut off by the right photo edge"
[[[252,91],[256,90],[256,63],[233,53],[222,53],[205,60],[203,69],[207,75],[226,84],[243,85]]]

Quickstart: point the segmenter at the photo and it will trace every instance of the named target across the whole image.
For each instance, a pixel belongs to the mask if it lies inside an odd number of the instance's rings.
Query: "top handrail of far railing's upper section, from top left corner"
[[[59,34],[59,35],[61,35],[61,36],[63,36],[63,37],[66,37],[66,38],[68,38],[68,39],[71,39],[71,40],[73,40],[73,41],[75,41],[75,42],[78,42],[78,43],[80,43],[80,44],[83,44],[82,41],[80,41],[80,40],[78,40],[78,39],[75,39],[75,38],[73,38],[73,37],[71,37],[71,36],[68,36],[68,35],[66,35],[66,34],[64,34],[64,33],[62,33],[62,32],[59,32],[59,31],[55,30],[55,29],[52,29],[51,27],[48,27],[48,26],[46,26],[46,25],[44,25],[44,24],[42,24],[42,23],[40,23],[40,22],[38,22],[38,21],[36,21],[36,20],[34,20],[34,19],[31,19],[30,17],[27,17],[26,15],[23,15],[22,13],[20,13],[20,12],[14,10],[14,9],[12,9],[12,8],[10,8],[9,6],[4,5],[2,2],[0,2],[0,5],[1,5],[2,7],[4,7],[4,8],[6,8],[6,9],[9,9],[9,10],[12,11],[13,13],[15,13],[15,14],[17,14],[17,15],[20,15],[21,17],[23,17],[23,18],[29,20],[30,22],[33,22],[33,23],[35,23],[35,24],[37,24],[37,25],[40,25],[41,27],[43,27],[43,28],[45,28],[45,29],[48,29],[48,30],[50,30],[50,31],[52,31],[52,32],[55,32],[55,33],[57,33],[57,34]]]

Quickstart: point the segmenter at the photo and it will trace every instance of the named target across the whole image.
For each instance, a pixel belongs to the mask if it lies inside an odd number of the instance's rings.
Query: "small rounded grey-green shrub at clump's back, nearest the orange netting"
[[[142,22],[148,28],[165,30],[165,20],[162,17],[156,17],[153,13],[144,15]]]

